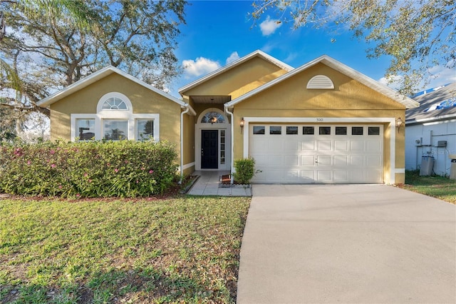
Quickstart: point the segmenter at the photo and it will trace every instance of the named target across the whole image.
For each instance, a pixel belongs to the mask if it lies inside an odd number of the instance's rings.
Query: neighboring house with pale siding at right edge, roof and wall
[[[456,83],[420,94],[415,101],[420,106],[405,116],[405,168],[420,169],[432,157],[431,173],[450,176],[448,156],[456,153]]]

